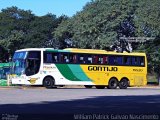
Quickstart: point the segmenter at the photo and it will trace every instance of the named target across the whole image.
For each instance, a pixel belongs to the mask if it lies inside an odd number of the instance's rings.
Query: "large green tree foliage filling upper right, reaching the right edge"
[[[106,49],[119,37],[155,37],[154,41],[132,44],[147,53],[149,70],[160,64],[159,0],[92,0],[82,11],[62,22],[54,36],[71,39],[76,47]]]

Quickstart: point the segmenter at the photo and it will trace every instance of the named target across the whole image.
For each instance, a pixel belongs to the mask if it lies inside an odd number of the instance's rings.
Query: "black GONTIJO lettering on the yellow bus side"
[[[89,71],[118,71],[117,67],[88,66]]]

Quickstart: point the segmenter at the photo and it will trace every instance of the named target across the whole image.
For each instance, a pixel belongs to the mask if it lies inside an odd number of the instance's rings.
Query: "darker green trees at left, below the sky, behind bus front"
[[[0,46],[5,55],[13,55],[17,49],[28,47],[53,47],[46,41],[53,41],[52,32],[67,16],[56,17],[53,14],[35,16],[30,10],[17,7],[2,9],[0,12]],[[56,43],[56,42],[54,42]],[[0,56],[0,60],[3,60]],[[7,58],[6,58],[7,59]],[[4,60],[3,60],[4,61]]]

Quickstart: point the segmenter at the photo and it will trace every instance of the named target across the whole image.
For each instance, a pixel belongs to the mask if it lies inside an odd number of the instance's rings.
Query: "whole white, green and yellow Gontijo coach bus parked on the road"
[[[117,53],[94,49],[27,48],[13,56],[12,84],[53,88],[126,89],[147,84],[145,53]]]

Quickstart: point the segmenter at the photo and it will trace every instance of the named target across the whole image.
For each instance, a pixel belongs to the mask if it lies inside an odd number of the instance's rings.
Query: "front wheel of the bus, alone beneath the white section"
[[[43,80],[43,86],[46,88],[53,88],[54,87],[54,79],[52,77],[46,77]]]

